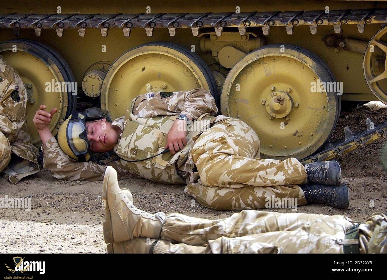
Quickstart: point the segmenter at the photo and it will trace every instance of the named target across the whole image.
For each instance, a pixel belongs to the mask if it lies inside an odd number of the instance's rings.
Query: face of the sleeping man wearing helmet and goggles
[[[117,144],[120,134],[106,119],[86,122],[86,127],[91,151],[105,153]]]

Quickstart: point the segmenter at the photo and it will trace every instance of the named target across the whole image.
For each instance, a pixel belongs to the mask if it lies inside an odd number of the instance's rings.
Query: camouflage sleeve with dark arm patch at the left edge
[[[0,131],[12,143],[26,121],[27,92],[19,74],[0,56]]]

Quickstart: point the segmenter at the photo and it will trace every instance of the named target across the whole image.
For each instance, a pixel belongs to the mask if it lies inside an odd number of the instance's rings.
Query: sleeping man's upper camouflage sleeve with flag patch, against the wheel
[[[185,114],[196,120],[203,114],[217,113],[214,97],[202,88],[186,92],[149,92],[133,102],[132,112],[139,117]]]

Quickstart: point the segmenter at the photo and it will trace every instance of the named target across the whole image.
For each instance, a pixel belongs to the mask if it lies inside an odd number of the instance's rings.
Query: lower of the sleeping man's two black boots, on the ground
[[[345,209],[349,206],[348,187],[345,183],[337,187],[318,184],[300,185],[308,203],[323,203],[329,206]]]

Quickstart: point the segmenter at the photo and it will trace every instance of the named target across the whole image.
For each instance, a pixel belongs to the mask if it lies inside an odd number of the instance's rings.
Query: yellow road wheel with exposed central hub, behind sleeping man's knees
[[[262,158],[302,159],[325,143],[339,117],[339,97],[327,82],[334,82],[332,73],[315,54],[289,44],[267,45],[228,73],[222,114],[257,132]]]

